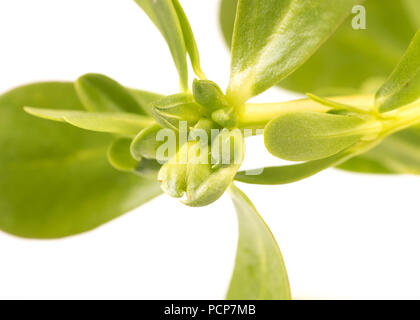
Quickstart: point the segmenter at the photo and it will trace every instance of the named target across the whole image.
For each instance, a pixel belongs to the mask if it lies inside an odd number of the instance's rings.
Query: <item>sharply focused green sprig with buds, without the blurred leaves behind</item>
[[[95,228],[161,190],[189,206],[209,205],[228,191],[239,241],[227,298],[290,299],[279,247],[233,182],[294,182],[419,124],[420,33],[376,95],[307,94],[253,104],[247,101],[304,64],[363,0],[314,0],[311,6],[239,0],[225,92],[206,78],[178,0],[136,2],[168,44],[180,92],[164,96],[87,74],[74,84],[38,83],[3,95],[0,228],[23,237],[64,237]],[[187,57],[197,77],[192,82]],[[23,130],[12,130],[16,125]],[[299,163],[238,172],[245,138],[260,133],[271,154]]]

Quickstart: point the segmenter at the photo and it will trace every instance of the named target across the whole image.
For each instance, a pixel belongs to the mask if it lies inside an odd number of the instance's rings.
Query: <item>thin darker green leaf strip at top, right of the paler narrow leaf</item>
[[[179,1],[172,0],[172,2],[174,4],[175,11],[178,15],[179,23],[181,24],[185,46],[187,48],[193,70],[200,79],[205,79],[206,76],[204,75],[203,70],[201,70],[200,55],[198,53],[197,43],[195,42],[194,34],[191,29],[190,23],[188,22],[188,18],[185,15],[185,12],[182,9],[182,6],[180,5]]]

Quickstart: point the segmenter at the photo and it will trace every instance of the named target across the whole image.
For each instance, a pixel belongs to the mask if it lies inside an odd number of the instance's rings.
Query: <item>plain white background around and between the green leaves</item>
[[[207,76],[225,87],[230,58],[218,1],[181,2]],[[0,41],[0,91],[87,72],[177,91],[163,39],[131,0],[2,0]],[[256,101],[294,97],[273,89]],[[279,161],[254,139],[246,163]],[[279,242],[294,298],[420,298],[419,177],[327,170],[286,186],[240,187]],[[202,209],[162,196],[63,240],[0,232],[0,298],[222,299],[236,239],[227,196]]]

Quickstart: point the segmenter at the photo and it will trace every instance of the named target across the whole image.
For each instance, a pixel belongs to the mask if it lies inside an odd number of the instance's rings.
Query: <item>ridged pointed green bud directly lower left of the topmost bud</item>
[[[207,115],[207,111],[192,95],[179,93],[152,103],[152,115],[160,125],[178,130],[180,121],[186,121],[187,126],[192,127]]]

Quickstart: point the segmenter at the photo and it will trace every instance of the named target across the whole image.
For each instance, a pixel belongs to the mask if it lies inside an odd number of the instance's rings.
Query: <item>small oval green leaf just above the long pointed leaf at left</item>
[[[86,74],[76,80],[75,88],[88,111],[147,114],[128,89],[104,75]]]

